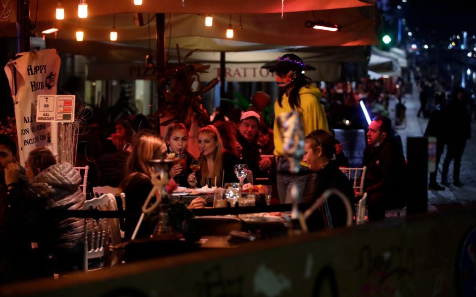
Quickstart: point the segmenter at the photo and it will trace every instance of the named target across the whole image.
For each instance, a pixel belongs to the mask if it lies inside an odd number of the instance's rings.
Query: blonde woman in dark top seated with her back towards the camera
[[[134,136],[132,152],[126,164],[126,177],[120,185],[122,192],[125,194],[125,205],[127,205],[128,210],[142,209],[145,199],[153,188],[150,181],[151,168],[147,161],[163,158],[166,151],[167,146],[164,141],[151,130],[140,131]],[[205,203],[205,199],[195,198],[190,202],[188,208],[203,208]],[[127,220],[125,238],[131,238],[139,216]],[[153,233],[153,228],[154,226],[151,226],[148,222],[142,223],[137,237],[149,237]]]

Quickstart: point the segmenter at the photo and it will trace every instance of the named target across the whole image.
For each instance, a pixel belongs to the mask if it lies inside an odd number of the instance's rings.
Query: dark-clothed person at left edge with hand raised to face
[[[38,277],[42,268],[33,247],[46,200],[31,189],[16,153],[15,142],[0,135],[0,283]]]

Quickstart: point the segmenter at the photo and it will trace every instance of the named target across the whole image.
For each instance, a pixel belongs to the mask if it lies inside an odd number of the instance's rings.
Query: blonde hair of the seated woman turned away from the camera
[[[166,151],[167,146],[157,133],[150,130],[137,132],[136,137],[134,137],[132,152],[127,158],[125,167],[126,178],[122,181],[120,188],[124,189],[136,173],[145,174],[150,177],[150,166],[147,161],[158,155],[164,157]]]

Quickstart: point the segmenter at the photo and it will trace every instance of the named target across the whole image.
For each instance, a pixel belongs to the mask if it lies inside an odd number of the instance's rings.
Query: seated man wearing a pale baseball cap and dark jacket
[[[253,172],[253,178],[263,176],[271,166],[271,160],[261,159],[256,135],[259,129],[260,116],[255,111],[246,111],[241,114],[238,124],[237,141],[241,145],[240,162],[247,164]]]

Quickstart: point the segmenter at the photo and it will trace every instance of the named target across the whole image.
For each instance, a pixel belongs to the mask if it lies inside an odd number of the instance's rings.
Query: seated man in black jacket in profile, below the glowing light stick
[[[364,192],[367,193],[368,220],[385,219],[385,210],[404,207],[406,162],[402,150],[391,137],[387,117],[377,117],[368,126],[363,166],[367,167]]]

